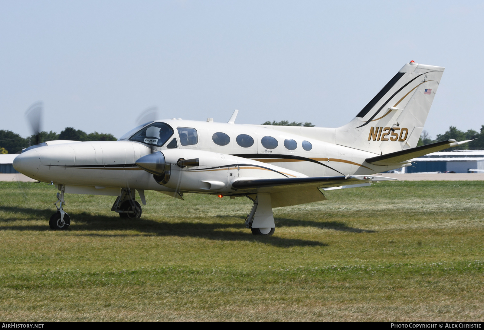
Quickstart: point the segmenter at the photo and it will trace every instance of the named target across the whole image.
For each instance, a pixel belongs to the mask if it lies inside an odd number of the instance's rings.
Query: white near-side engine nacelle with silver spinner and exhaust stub
[[[239,179],[301,178],[305,175],[242,157],[200,150],[156,151],[136,161],[167,188],[181,192],[233,193]]]

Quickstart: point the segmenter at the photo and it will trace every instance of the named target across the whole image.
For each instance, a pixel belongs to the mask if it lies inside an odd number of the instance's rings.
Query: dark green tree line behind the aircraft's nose
[[[0,154],[1,153],[19,153],[22,149],[35,144],[36,137],[31,135],[22,138],[19,134],[12,131],[0,130]],[[74,141],[116,141],[112,134],[108,133],[86,133],[74,127],[66,127],[61,133],[39,132],[39,143],[52,140],[74,140]]]

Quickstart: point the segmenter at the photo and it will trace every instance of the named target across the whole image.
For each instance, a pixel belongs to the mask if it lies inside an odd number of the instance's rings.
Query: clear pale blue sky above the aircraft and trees
[[[0,129],[120,137],[161,118],[349,122],[408,61],[446,67],[424,129],[484,124],[483,2],[0,1]]]

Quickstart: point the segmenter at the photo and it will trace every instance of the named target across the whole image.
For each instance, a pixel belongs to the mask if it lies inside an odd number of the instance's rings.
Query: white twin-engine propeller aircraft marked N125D
[[[57,185],[52,229],[66,229],[64,193],[117,196],[111,210],[141,216],[145,190],[246,196],[256,235],[274,233],[273,207],[322,201],[325,190],[393,180],[374,173],[467,141],[416,147],[444,68],[405,64],[356,117],[338,128],[235,124],[172,118],[140,125],[118,141],[49,141],[24,150],[17,171]]]

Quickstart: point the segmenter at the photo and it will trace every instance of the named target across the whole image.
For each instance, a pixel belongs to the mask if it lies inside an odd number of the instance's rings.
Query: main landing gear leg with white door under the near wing
[[[245,228],[250,228],[254,235],[270,236],[274,234],[275,224],[270,193],[257,194],[254,205],[245,219]]]

